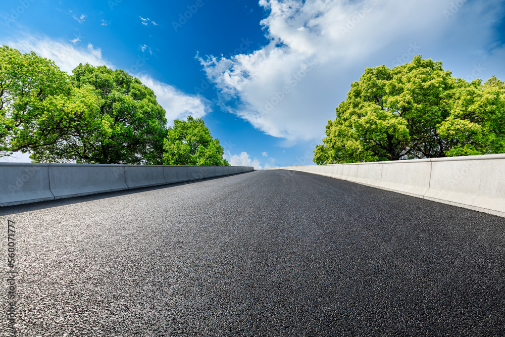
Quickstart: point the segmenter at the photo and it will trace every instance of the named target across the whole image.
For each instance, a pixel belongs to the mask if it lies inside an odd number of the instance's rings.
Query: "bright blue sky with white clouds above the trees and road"
[[[68,73],[86,62],[127,70],[169,125],[201,117],[232,165],[266,168],[313,164],[367,67],[421,54],[456,77],[505,79],[504,16],[497,0],[8,0],[0,43]]]

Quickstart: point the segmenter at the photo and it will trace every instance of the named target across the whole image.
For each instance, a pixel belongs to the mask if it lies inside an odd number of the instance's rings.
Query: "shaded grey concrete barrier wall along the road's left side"
[[[0,206],[219,177],[253,167],[0,163]]]

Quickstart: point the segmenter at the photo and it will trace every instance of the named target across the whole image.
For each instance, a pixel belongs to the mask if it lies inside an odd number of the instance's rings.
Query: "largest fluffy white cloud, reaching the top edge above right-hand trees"
[[[199,61],[223,106],[287,143],[321,139],[365,67],[392,67],[439,49],[479,51],[493,39],[503,9],[498,0],[261,0],[260,5],[269,12],[261,21],[267,45],[247,55]]]

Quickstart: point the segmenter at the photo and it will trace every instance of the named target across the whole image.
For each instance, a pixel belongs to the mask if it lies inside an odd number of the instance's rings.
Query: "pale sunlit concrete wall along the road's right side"
[[[331,176],[505,217],[505,154],[274,169]]]

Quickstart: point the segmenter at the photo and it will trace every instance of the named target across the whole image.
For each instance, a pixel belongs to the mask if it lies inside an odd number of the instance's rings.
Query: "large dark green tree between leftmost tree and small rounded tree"
[[[165,110],[153,90],[123,70],[79,65],[70,82],[67,132],[35,149],[39,162],[161,164]]]

